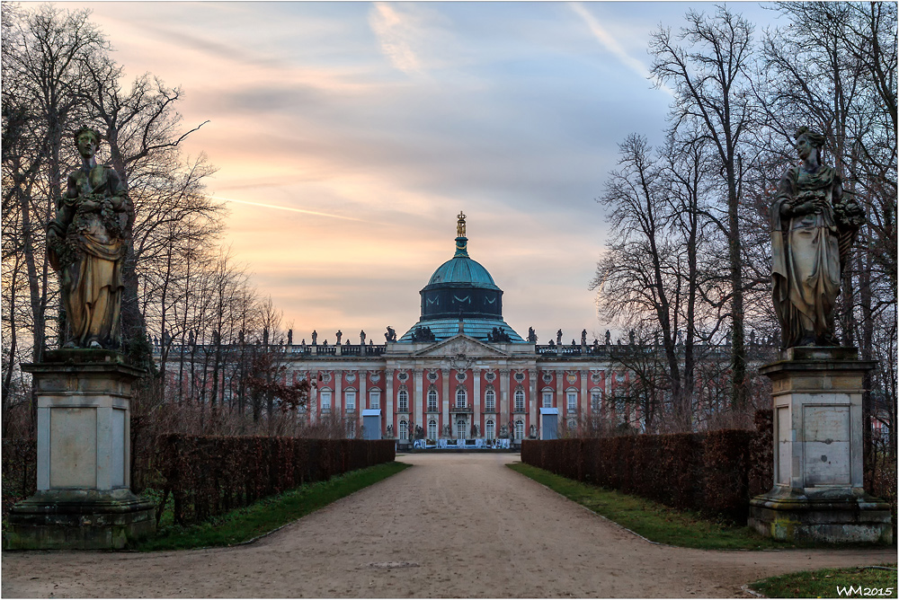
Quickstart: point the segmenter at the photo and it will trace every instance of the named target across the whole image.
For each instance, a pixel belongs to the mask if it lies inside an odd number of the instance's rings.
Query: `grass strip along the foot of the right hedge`
[[[652,542],[706,550],[783,550],[819,545],[778,542],[762,537],[747,526],[716,522],[652,500],[566,479],[530,464],[508,466]]]

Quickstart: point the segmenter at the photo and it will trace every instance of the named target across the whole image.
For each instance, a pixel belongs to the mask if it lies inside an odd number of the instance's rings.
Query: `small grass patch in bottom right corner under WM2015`
[[[770,598],[895,598],[896,570],[821,569],[762,579],[752,589]]]

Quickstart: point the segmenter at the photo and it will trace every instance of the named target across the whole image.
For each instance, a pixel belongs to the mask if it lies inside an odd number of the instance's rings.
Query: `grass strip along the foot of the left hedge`
[[[259,500],[249,507],[238,508],[197,525],[166,525],[171,516],[166,518],[164,515],[156,535],[136,544],[135,549],[187,550],[246,542],[296,521],[334,500],[349,496],[354,491],[387,479],[409,466],[411,465],[406,463],[384,463],[343,473],[330,481],[303,485],[296,490]]]

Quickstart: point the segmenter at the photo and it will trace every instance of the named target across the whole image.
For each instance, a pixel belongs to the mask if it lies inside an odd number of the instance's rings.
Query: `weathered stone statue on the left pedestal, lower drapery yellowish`
[[[116,349],[129,199],[118,173],[96,162],[100,134],[81,128],[75,144],[81,168],[69,174],[66,196],[47,231],[47,255],[66,308],[63,347]]]

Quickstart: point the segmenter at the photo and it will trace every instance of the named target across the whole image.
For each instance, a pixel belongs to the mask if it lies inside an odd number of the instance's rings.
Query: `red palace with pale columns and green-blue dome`
[[[628,384],[613,372],[608,344],[556,341],[538,344],[503,319],[503,290],[468,255],[465,215],[458,215],[452,258],[421,290],[421,315],[397,338],[387,328],[384,344],[343,341],[280,346],[294,381],[316,382],[300,417],[345,419],[348,434],[413,439],[496,439],[518,444],[556,437],[559,426],[614,418],[607,399]],[[223,388],[226,386],[222,386]],[[619,420],[623,415],[619,415]]]

